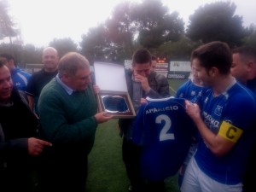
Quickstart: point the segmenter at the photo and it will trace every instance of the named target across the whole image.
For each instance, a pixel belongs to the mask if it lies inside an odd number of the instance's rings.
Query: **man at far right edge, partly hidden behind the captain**
[[[245,84],[247,88],[253,90],[256,96],[256,50],[252,47],[242,46],[232,51],[233,63],[231,66],[231,74]],[[247,162],[247,172],[243,181],[243,191],[249,192],[255,189],[255,178],[252,177],[256,172],[256,142],[253,144],[253,149],[250,153]]]

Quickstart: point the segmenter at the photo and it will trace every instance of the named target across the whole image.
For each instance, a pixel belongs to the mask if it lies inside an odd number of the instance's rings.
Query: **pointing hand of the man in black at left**
[[[52,146],[52,144],[35,137],[28,138],[28,154],[32,156],[41,154],[45,146]]]

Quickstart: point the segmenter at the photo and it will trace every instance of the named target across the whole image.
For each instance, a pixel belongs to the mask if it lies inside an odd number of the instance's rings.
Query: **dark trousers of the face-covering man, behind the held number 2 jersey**
[[[165,191],[164,181],[146,181],[141,177],[140,172],[140,155],[142,148],[127,140],[123,139],[123,160],[127,175],[130,179],[132,191],[134,192],[162,192]]]

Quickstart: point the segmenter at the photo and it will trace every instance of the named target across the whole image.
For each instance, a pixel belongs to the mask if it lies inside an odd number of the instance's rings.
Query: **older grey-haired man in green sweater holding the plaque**
[[[97,113],[90,64],[83,55],[71,52],[61,58],[56,78],[41,92],[38,109],[39,134],[53,143],[40,160],[40,191],[84,191],[96,127],[112,116]]]

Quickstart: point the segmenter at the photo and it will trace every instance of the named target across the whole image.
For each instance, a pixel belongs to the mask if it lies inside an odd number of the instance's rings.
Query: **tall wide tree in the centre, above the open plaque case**
[[[177,12],[169,14],[168,8],[159,0],[144,0],[143,3],[126,1],[119,3],[113,9],[111,17],[106,20],[102,35],[107,39],[99,37],[96,42],[101,44],[98,39],[105,41],[102,42],[105,47],[102,51],[105,52],[106,58],[101,59],[111,58],[112,61],[123,62],[127,58],[130,59],[134,50],[139,47],[154,51],[160,44],[177,41],[184,33],[183,26],[183,20]],[[86,38],[96,34],[87,34]]]

